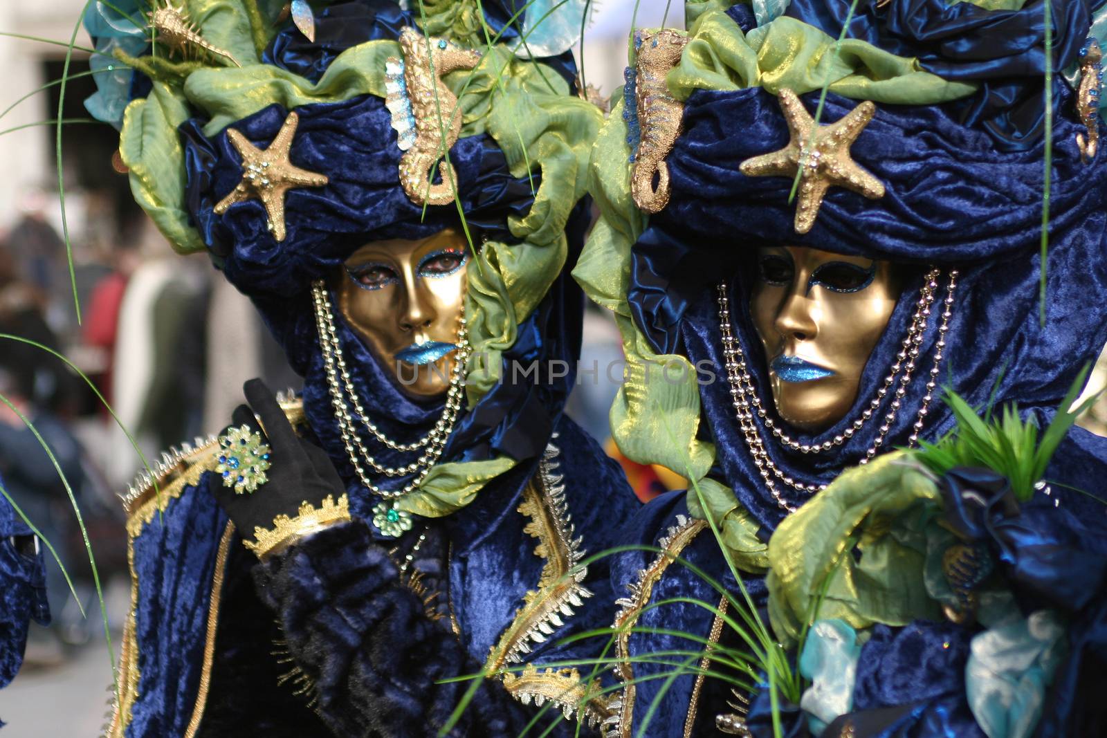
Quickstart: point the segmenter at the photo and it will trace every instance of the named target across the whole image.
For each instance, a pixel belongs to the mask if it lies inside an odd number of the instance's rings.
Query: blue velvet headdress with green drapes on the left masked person
[[[219,0],[193,4],[207,8],[213,2]],[[497,2],[484,7],[488,28],[509,45],[526,17],[513,19]],[[227,31],[229,24],[213,21],[200,28],[209,42],[238,59],[256,54],[256,61],[241,69],[188,67],[183,80],[168,73],[178,67],[143,66],[151,58],[132,62],[153,79],[131,85],[128,94],[138,90],[143,96],[128,105],[121,137],[137,201],[178,250],[207,250],[255,302],[293,368],[306,377],[304,409],[312,429],[351,480],[355,475],[332,416],[310,290],[312,281],[332,274],[364,243],[418,239],[447,227],[462,230],[464,219],[478,251],[469,267],[466,305],[474,350],[488,357],[493,370],[511,360],[572,364],[579,350],[582,299],[559,274],[580,249],[584,211],[573,209],[583,193],[578,170],[599,112],[570,94],[575,69],[571,55],[561,53],[563,40],[547,39],[560,55],[539,65],[514,58],[505,45],[483,45],[483,33],[479,41],[457,38],[455,13],[476,8],[447,2],[423,12],[402,10],[393,0],[335,3],[317,11],[312,41],[289,21],[260,49]],[[402,56],[395,41],[405,28],[453,37],[494,56],[472,73],[459,71],[443,80],[461,97],[463,121],[449,149],[456,199],[448,205],[414,202],[401,186],[404,150],[385,97],[386,67]],[[118,92],[103,87],[90,104],[110,110],[105,97]],[[260,200],[232,205],[221,215],[215,206],[242,178],[241,156],[227,131],[266,148],[293,110],[299,123],[291,162],[325,175],[328,184],[288,191],[287,232],[278,240]],[[426,433],[438,419],[442,402],[404,394],[355,332],[337,319],[368,414],[394,438]],[[470,500],[483,481],[539,455],[573,378],[570,373],[539,382],[497,382],[495,371],[473,376],[472,368],[469,412],[420,493],[402,501],[422,499],[425,492],[427,499],[413,501],[420,507],[411,512],[444,514]],[[400,461],[391,456],[397,455],[385,450],[377,458]],[[436,487],[435,472],[451,468],[456,469],[453,476]],[[355,508],[369,505],[362,495],[351,498]],[[368,507],[358,512],[368,514]]]

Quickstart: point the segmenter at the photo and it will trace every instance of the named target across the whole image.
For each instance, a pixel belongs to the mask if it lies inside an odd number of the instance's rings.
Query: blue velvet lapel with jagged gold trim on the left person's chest
[[[611,548],[639,502],[587,433],[565,417],[556,427],[537,467],[517,467],[448,519],[451,601],[463,643],[486,668],[528,665],[504,678],[513,696],[571,707],[584,694],[581,674],[542,664],[587,659],[602,648],[597,638],[560,644],[606,626],[612,599],[606,559],[576,565]],[[589,723],[606,717],[602,701],[589,704]]]

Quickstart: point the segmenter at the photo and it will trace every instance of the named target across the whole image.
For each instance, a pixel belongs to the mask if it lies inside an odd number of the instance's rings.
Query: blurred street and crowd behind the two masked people
[[[642,0],[639,27],[658,27],[665,0]],[[223,428],[241,402],[242,382],[297,385],[249,303],[218,277],[206,256],[176,256],[135,206],[125,175],[113,168],[117,133],[74,122],[64,128],[61,171],[82,320],[77,322],[62,233],[55,129],[65,44],[84,0],[0,2],[0,333],[59,351],[93,382],[152,461],[162,450]],[[673,3],[666,24],[680,28]],[[607,97],[622,84],[635,4],[601,0],[587,33],[587,82]],[[76,43],[87,45],[83,32]],[[579,59],[579,56],[578,56]],[[74,53],[61,116],[87,121],[94,91],[87,55]],[[24,96],[25,100],[21,100]],[[18,104],[17,104],[18,103]],[[9,107],[11,106],[11,107]],[[218,313],[219,321],[208,320]],[[606,366],[621,356],[618,331],[600,310],[588,313],[582,361]],[[209,346],[234,345],[230,352]],[[1101,362],[1103,363],[1103,362]],[[1101,366],[1094,387],[1107,383]],[[601,443],[615,385],[578,387],[570,413]],[[0,340],[0,394],[29,417],[59,459],[81,506],[105,588],[113,644],[128,604],[125,534],[116,495],[139,467],[130,441],[86,383],[37,346]],[[1107,405],[1087,419],[1107,428]],[[631,471],[642,496],[660,489],[648,469]],[[56,567],[49,596],[54,623],[32,632],[27,665],[0,690],[3,738],[99,735],[112,683],[111,658],[91,569],[65,489],[19,415],[0,406],[0,479],[71,572],[81,607]]]

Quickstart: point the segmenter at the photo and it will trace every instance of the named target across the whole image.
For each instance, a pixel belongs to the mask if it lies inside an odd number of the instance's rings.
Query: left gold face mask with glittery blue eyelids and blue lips
[[[467,263],[465,237],[446,229],[366,243],[335,274],[342,316],[408,395],[449,388]]]

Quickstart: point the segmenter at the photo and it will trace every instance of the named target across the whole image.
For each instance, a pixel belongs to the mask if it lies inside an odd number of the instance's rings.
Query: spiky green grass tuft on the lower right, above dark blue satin
[[[955,467],[987,467],[1011,481],[1011,489],[1020,500],[1028,500],[1034,495],[1034,486],[1043,481],[1049,459],[1065,434],[1101,394],[1096,393],[1079,406],[1073,406],[1089,368],[1085,365],[1080,370],[1045,430],[1039,428],[1036,415],[1027,414],[1024,418],[1015,403],[995,414],[990,402],[982,416],[948,388],[942,399],[953,410],[956,426],[932,444],[920,441],[919,460],[939,475]]]

